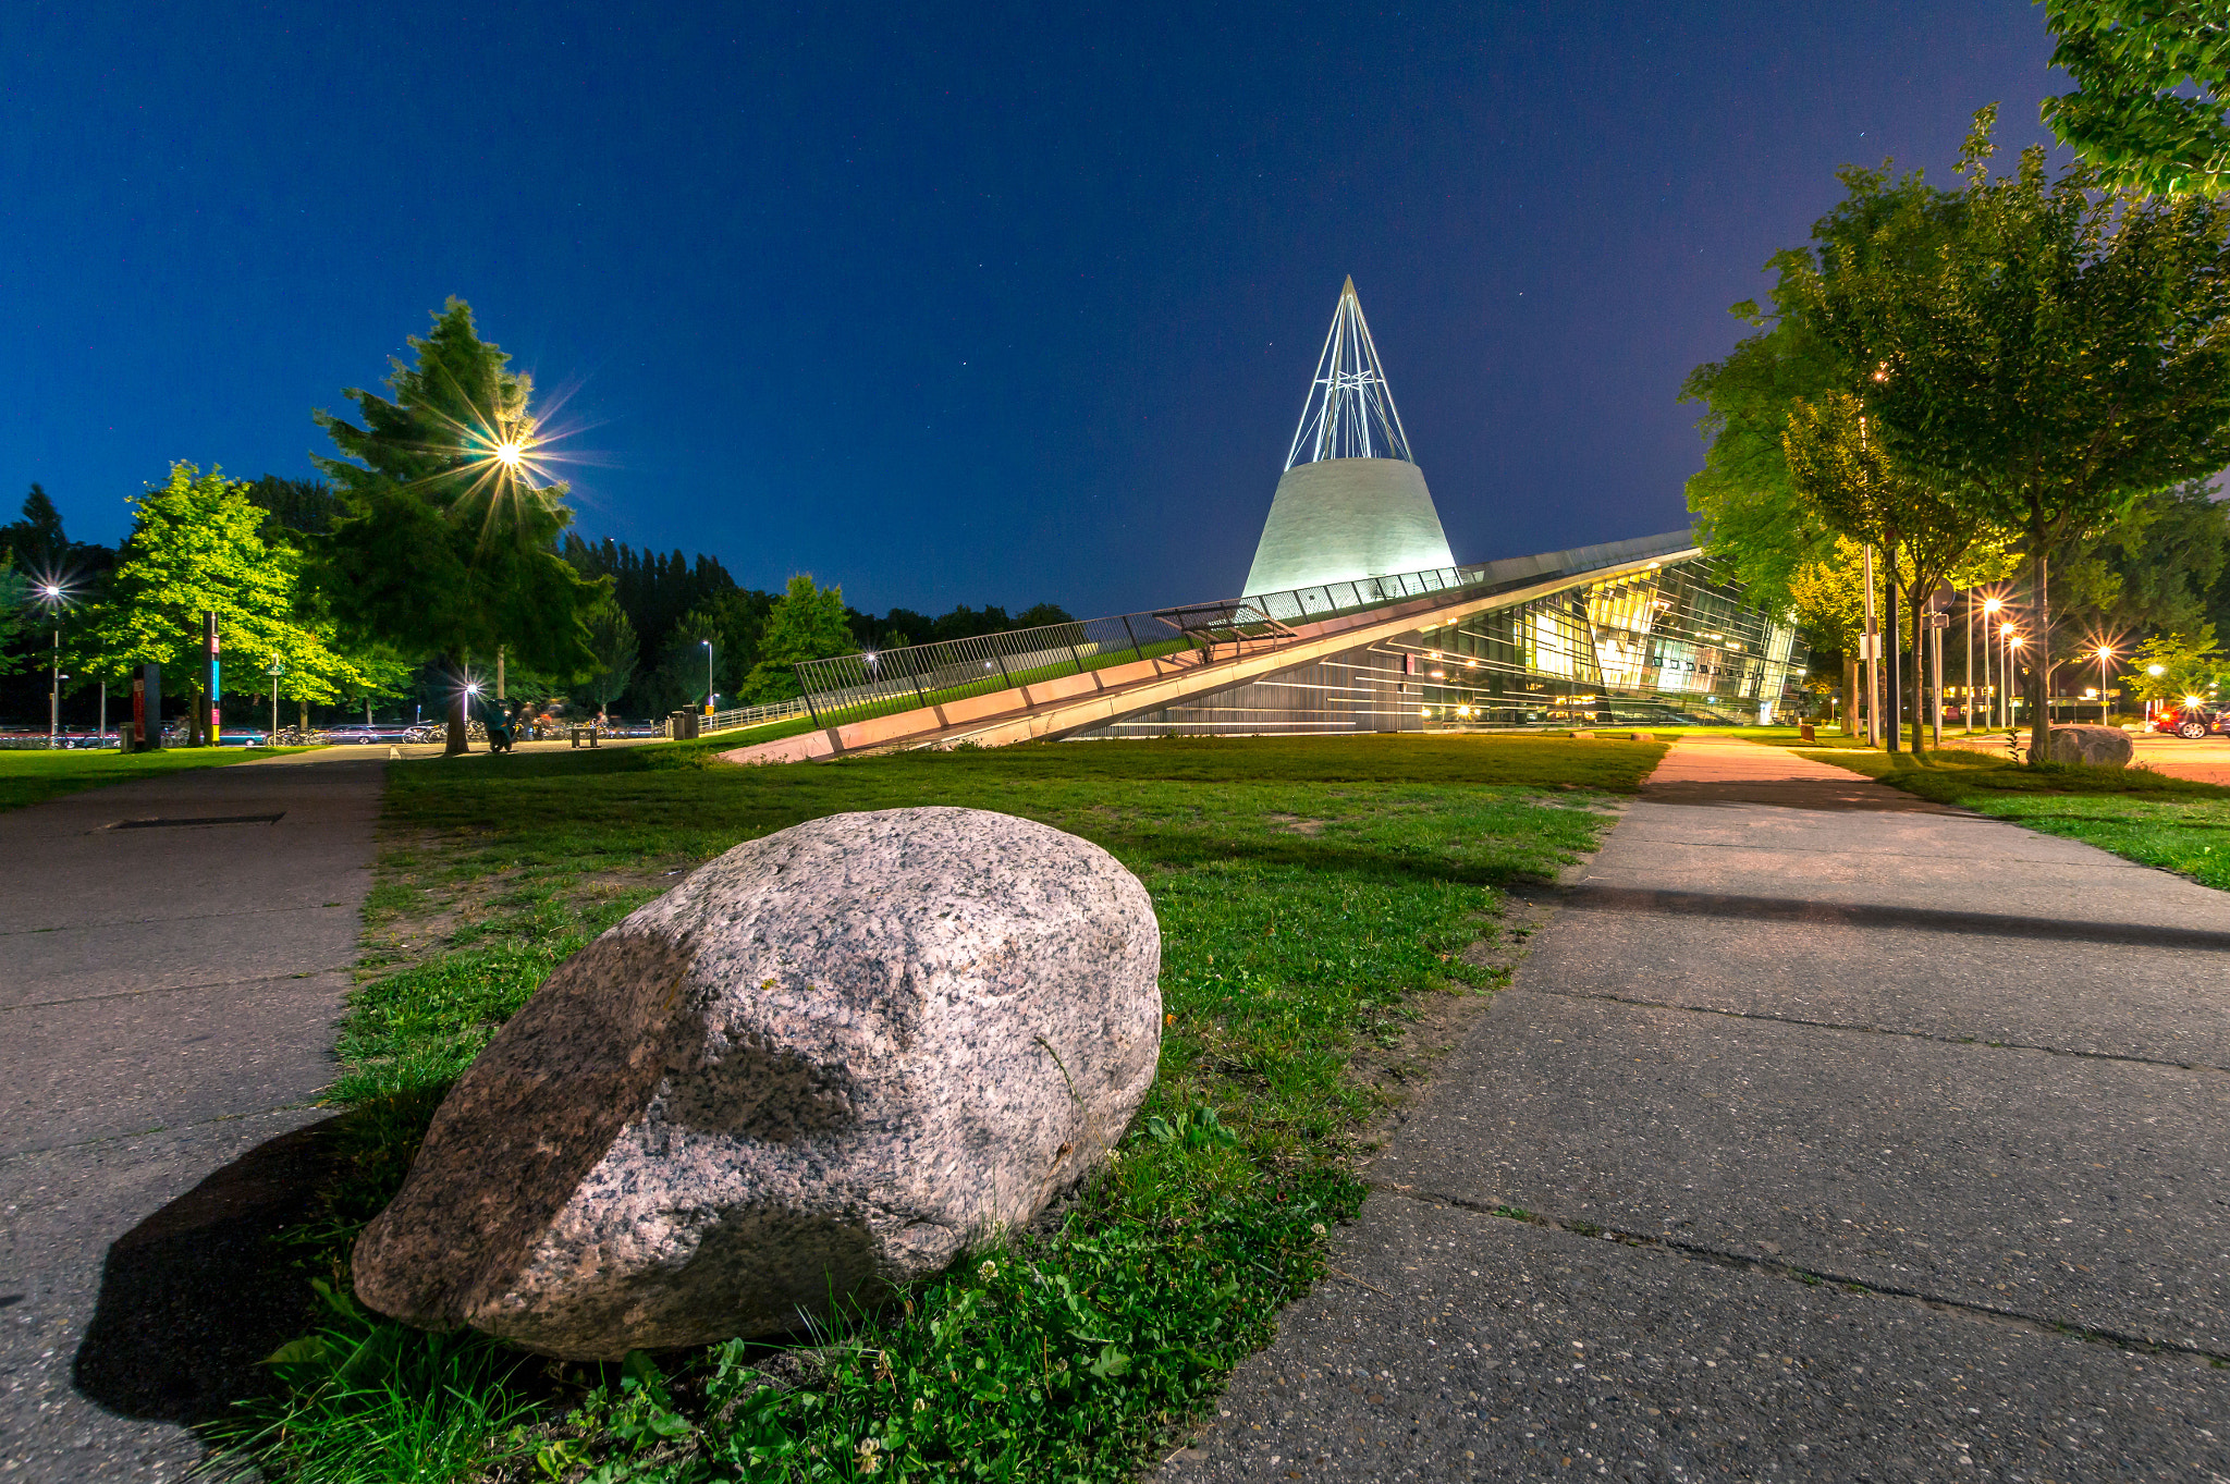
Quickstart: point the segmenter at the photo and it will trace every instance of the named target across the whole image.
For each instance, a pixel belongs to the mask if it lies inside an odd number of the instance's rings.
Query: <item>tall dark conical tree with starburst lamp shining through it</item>
[[[415,365],[392,363],[388,392],[348,388],[363,426],[317,412],[343,457],[317,459],[341,510],[310,544],[317,586],[341,631],[453,675],[448,755],[466,751],[462,671],[506,648],[558,677],[595,664],[586,613],[604,584],[558,541],[573,515],[566,486],[535,481],[533,385],[479,339],[450,299],[413,336]]]

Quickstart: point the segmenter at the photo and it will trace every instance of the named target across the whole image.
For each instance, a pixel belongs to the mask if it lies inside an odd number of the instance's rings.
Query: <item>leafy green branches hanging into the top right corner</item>
[[[2221,0],[2045,0],[2052,67],[2076,91],[2043,116],[2103,185],[2161,196],[2230,189],[2230,7]]]

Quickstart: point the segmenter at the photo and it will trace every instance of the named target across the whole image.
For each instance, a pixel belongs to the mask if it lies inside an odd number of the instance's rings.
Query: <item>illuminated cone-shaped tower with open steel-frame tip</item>
[[[1349,279],[1269,501],[1247,595],[1454,564]]]

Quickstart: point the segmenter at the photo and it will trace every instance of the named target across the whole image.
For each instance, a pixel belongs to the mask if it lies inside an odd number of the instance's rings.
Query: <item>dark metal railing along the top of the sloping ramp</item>
[[[812,713],[816,726],[841,726],[1162,655],[1202,653],[1204,660],[1213,660],[1222,644],[1235,644],[1242,653],[1255,646],[1276,648],[1293,642],[1291,624],[1367,613],[1436,593],[1485,595],[1565,570],[1594,570],[1686,546],[1693,546],[1693,537],[1679,530],[1541,557],[1356,577],[1255,597],[807,660],[796,666],[798,686],[805,691],[798,706]]]

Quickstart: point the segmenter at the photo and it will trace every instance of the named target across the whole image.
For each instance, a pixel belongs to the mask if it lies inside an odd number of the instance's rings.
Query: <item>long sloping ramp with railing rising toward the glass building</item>
[[[801,664],[816,729],[729,762],[1066,738],[1414,628],[1699,555],[1675,530],[1467,568],[1371,577]]]

